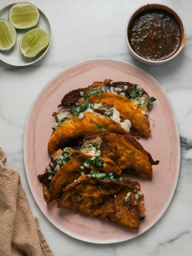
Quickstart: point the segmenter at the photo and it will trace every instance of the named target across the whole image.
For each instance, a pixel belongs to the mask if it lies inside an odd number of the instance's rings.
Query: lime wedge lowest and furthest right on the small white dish
[[[28,58],[35,57],[49,44],[47,33],[41,28],[34,28],[26,32],[20,40],[20,51]]]

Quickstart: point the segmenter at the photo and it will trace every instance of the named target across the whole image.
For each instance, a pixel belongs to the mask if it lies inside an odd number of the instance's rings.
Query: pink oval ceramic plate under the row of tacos
[[[139,84],[157,100],[150,112],[152,136],[140,139],[159,165],[153,167],[153,180],[131,177],[139,181],[145,196],[145,219],[138,231],[130,230],[105,220],[87,217],[76,212],[57,208],[57,202],[47,204],[42,185],[37,179],[50,157],[47,143],[54,122],[52,112],[57,111],[63,95],[73,89],[86,87],[93,81],[129,81]],[[151,228],[163,215],[174,194],[180,168],[180,141],[176,118],[161,85],[148,73],[129,63],[96,59],[76,64],[56,76],[38,95],[32,106],[24,134],[24,161],[31,192],[41,211],[52,224],[64,233],[82,241],[108,244],[122,242]]]

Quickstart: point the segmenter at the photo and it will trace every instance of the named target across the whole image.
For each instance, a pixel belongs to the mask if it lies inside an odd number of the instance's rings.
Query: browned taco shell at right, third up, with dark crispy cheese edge
[[[85,136],[84,142],[102,139],[100,152],[103,157],[112,159],[123,172],[151,180],[153,177],[152,165],[159,164],[142,145],[130,135],[116,133],[102,133],[95,136]]]

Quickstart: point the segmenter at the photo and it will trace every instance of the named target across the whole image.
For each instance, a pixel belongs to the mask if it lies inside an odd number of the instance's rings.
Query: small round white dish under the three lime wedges
[[[9,4],[0,10],[0,19],[8,20],[8,13],[13,4]],[[38,6],[37,6],[37,8],[38,8]],[[16,29],[16,32],[17,32],[16,44],[10,51],[5,51],[5,52],[0,51],[0,60],[4,61],[7,64],[13,65],[13,66],[28,66],[28,65],[40,60],[45,55],[45,53],[48,51],[49,46],[51,44],[52,32],[51,32],[51,25],[50,25],[49,20],[47,19],[46,15],[41,10],[39,10],[39,12],[40,12],[40,19],[35,28],[42,28],[47,32],[47,34],[49,36],[49,45],[47,46],[47,48],[45,48],[42,52],[40,52],[34,58],[24,57],[21,54],[20,49],[19,49],[20,39],[25,32],[29,31],[32,28]]]

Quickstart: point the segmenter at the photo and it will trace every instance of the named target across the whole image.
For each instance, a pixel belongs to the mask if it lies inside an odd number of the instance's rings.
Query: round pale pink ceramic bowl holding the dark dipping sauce
[[[143,57],[141,57],[140,55],[138,55],[131,47],[131,44],[129,42],[129,31],[132,25],[133,20],[140,15],[142,12],[148,11],[148,10],[161,10],[164,12],[168,12],[169,14],[171,14],[175,20],[178,22],[179,26],[180,26],[180,30],[181,30],[181,42],[179,47],[177,48],[176,52],[174,52],[170,57],[168,57],[167,59],[164,60],[148,60],[145,59]],[[145,63],[145,64],[149,64],[149,65],[159,65],[159,64],[163,64],[169,60],[172,60],[174,57],[176,57],[180,51],[183,48],[183,45],[185,43],[186,40],[186,28],[185,28],[185,24],[181,18],[181,16],[175,12],[171,7],[165,5],[165,4],[157,4],[157,3],[150,3],[150,4],[145,4],[140,6],[139,8],[137,8],[129,17],[127,24],[126,24],[126,29],[125,29],[125,37],[126,37],[126,41],[127,41],[127,45],[129,47],[129,51],[131,52],[131,54],[137,59],[140,60],[141,62]]]

